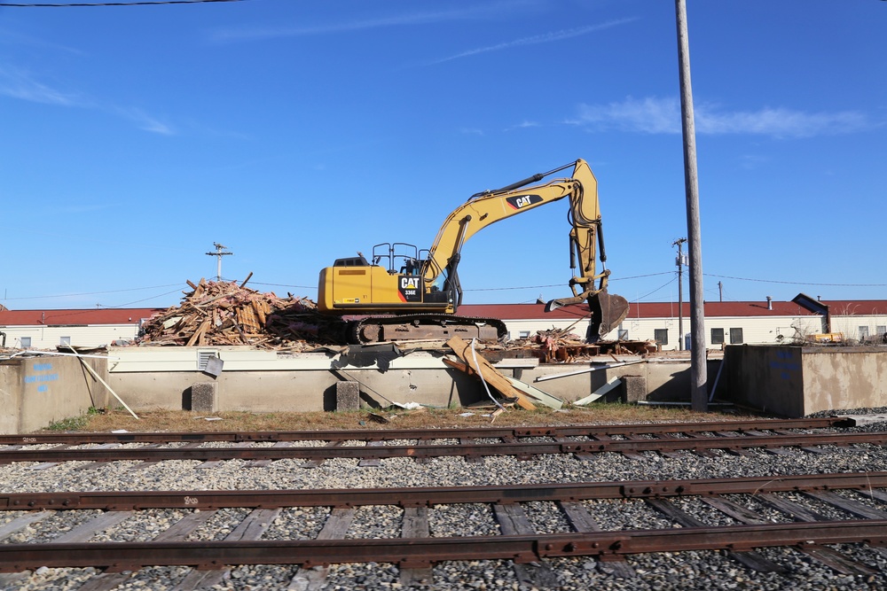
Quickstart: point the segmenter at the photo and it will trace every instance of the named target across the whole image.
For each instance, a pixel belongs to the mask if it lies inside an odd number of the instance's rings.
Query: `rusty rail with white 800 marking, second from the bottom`
[[[348,488],[316,490],[144,491],[0,494],[0,510],[221,509],[244,507],[433,507],[457,503],[649,499],[693,495],[861,490],[887,487],[885,472],[633,480],[506,486]]]

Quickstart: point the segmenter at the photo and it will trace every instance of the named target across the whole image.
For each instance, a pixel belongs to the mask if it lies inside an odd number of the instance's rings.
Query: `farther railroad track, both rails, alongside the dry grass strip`
[[[575,455],[603,452],[662,455],[714,450],[741,455],[750,448],[797,447],[818,453],[821,446],[881,445],[887,432],[847,432],[851,419],[710,422],[699,424],[585,425],[544,428],[379,430],[349,432],[64,433],[0,437],[0,463],[107,463],[172,460],[268,463],[301,459],[320,465],[334,458],[418,461],[463,456],[469,461],[513,455]],[[180,445],[181,444],[181,445]],[[322,444],[322,445],[321,445]],[[54,447],[45,447],[53,445]],[[85,446],[85,447],[84,447]]]

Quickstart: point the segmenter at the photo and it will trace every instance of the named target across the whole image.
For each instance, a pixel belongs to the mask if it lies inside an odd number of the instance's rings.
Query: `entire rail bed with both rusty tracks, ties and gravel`
[[[887,587],[887,433],[853,426],[2,436],[0,589]]]

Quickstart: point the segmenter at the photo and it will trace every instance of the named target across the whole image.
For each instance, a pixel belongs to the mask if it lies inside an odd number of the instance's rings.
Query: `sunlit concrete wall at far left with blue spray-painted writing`
[[[84,360],[99,376],[101,359]],[[42,356],[0,362],[0,432],[27,433],[108,404],[107,391],[75,357]]]

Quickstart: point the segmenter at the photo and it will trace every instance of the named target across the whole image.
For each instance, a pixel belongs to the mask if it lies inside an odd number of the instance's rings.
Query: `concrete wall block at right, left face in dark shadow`
[[[724,367],[726,400],[781,416],[887,406],[883,347],[728,346]]]

